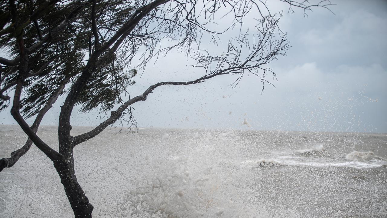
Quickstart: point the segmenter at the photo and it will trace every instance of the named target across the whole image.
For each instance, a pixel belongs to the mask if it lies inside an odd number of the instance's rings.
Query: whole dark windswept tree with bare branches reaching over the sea
[[[330,5],[329,0],[280,1],[288,4],[289,13],[293,7],[306,13]],[[28,136],[21,149],[1,159],[0,171],[13,166],[35,144],[53,162],[77,218],[91,217],[93,206],[75,175],[76,145],[116,121],[128,121],[131,129],[136,128],[132,105],[145,101],[162,85],[190,85],[232,74],[238,76],[233,87],[245,74],[252,74],[263,90],[271,84],[267,74],[276,76],[266,65],[289,48],[286,34],[278,28],[281,13],[272,14],[262,1],[9,0],[2,1],[0,9],[0,47],[7,55],[0,57],[0,110],[12,102],[10,113]],[[219,15],[231,17],[233,23],[217,30]],[[243,19],[252,18],[257,26],[243,30]],[[201,49],[202,39],[211,37],[217,43],[233,28],[241,31],[229,39],[223,54]],[[163,47],[164,41],[172,44]],[[139,54],[140,49],[145,52]],[[136,69],[145,69],[149,60],[172,49],[194,59],[194,67],[201,68],[203,75],[192,81],[160,82],[125,101],[123,94],[130,94],[127,87],[135,83]],[[141,64],[133,66],[135,57],[142,57]],[[65,101],[58,122],[59,151],[55,151],[37,131],[60,95]],[[80,112],[99,108],[102,113],[110,111],[110,116],[93,130],[72,136],[75,105],[81,106]],[[26,119],[33,116],[30,126]]]

